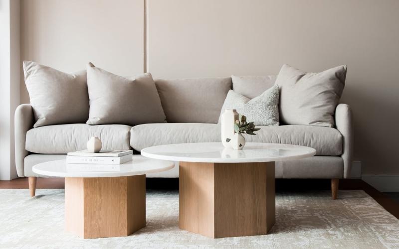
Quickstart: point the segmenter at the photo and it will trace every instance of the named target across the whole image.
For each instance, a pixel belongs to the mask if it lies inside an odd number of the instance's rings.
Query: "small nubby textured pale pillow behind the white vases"
[[[239,114],[245,115],[247,120],[255,125],[277,126],[279,125],[278,95],[278,86],[271,87],[253,99],[230,90],[224,100],[219,122],[225,109],[236,109]]]

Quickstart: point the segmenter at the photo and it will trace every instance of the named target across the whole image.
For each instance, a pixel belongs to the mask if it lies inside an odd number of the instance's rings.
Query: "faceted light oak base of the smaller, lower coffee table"
[[[146,176],[65,178],[65,230],[84,239],[146,226]]]

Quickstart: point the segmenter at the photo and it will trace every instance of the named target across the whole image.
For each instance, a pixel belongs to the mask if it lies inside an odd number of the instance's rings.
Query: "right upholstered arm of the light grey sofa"
[[[344,178],[348,178],[352,169],[353,157],[353,121],[349,105],[339,104],[335,109],[335,125],[343,138],[342,159],[344,160]]]

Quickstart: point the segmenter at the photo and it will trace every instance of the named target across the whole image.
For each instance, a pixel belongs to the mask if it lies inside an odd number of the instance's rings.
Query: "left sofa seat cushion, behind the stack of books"
[[[26,133],[27,151],[41,154],[66,154],[86,149],[91,136],[100,137],[102,149],[131,149],[129,125],[58,124],[37,127]]]

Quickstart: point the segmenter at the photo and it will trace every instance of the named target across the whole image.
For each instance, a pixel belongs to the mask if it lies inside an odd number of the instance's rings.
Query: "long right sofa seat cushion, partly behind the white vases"
[[[257,135],[247,135],[247,142],[287,143],[309,146],[317,155],[342,154],[342,135],[335,129],[309,125],[257,126]],[[146,147],[186,142],[220,142],[218,124],[140,124],[130,131],[130,145],[136,150]]]

